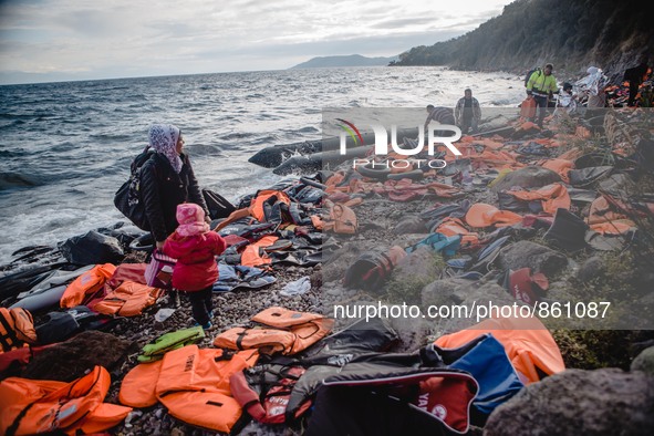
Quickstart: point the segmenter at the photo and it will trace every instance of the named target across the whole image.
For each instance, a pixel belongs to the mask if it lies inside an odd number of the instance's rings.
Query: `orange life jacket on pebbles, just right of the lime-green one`
[[[252,321],[266,328],[233,328],[220,333],[214,345],[230,350],[258,349],[262,354],[295,354],[326,336],[334,320],[318,313],[269,308]]]

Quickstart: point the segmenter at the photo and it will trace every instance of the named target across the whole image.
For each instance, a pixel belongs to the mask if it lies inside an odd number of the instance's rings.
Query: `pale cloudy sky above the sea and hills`
[[[512,0],[0,0],[0,84],[282,70],[394,56]]]

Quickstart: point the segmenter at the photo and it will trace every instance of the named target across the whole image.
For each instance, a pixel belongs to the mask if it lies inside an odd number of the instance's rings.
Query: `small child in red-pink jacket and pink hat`
[[[205,211],[198,205],[177,206],[179,226],[166,239],[164,253],[177,259],[173,288],[188,293],[193,318],[207,330],[211,328],[214,283],[218,279],[216,256],[225,251],[225,240],[209,230]]]

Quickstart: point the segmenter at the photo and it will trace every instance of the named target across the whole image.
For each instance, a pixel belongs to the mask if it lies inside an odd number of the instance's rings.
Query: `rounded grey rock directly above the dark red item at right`
[[[551,277],[568,264],[568,258],[548,247],[531,241],[518,241],[506,247],[499,253],[502,268],[519,270],[531,268],[532,272],[542,272]]]

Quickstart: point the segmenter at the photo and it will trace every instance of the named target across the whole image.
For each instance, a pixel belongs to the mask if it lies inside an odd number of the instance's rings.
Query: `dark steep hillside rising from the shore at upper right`
[[[569,72],[595,65],[620,80],[653,54],[654,25],[643,8],[641,0],[517,0],[476,30],[413,48],[393,64],[526,72],[552,62]]]

